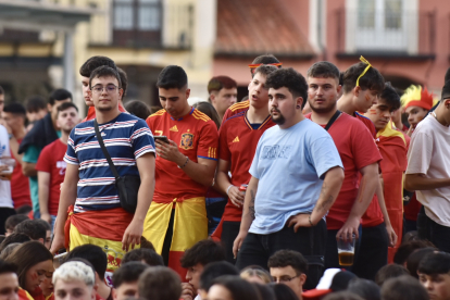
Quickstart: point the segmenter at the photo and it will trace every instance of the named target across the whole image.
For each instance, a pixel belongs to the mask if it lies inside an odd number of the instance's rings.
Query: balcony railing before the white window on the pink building
[[[436,12],[336,12],[338,55],[434,58]]]

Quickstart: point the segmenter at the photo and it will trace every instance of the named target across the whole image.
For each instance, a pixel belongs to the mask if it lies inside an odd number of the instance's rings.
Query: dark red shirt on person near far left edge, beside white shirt
[[[17,142],[21,143],[22,139],[17,139]],[[22,173],[22,165],[14,158],[11,152],[11,158],[15,160],[15,167],[11,177],[11,197],[14,202],[14,209],[18,209],[23,205],[33,205],[32,196],[29,195],[29,180]]]

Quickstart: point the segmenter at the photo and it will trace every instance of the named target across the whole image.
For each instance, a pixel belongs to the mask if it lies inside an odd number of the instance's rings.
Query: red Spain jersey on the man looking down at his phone
[[[155,136],[166,136],[178,145],[178,150],[192,162],[198,159],[217,161],[218,134],[214,122],[197,109],[174,120],[165,110],[147,118]],[[191,179],[176,163],[157,157],[157,185],[153,201],[164,203],[204,197],[208,187]]]

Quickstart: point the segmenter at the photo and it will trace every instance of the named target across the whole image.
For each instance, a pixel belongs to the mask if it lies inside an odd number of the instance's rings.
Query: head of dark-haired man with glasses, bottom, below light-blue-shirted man
[[[302,299],[308,262],[300,252],[279,250],[268,259],[267,266],[275,283],[287,285],[299,299]]]

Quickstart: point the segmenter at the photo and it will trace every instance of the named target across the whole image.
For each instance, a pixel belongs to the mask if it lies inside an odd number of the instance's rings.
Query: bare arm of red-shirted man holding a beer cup
[[[360,226],[361,216],[367,210],[374,198],[378,178],[378,163],[373,163],[360,170],[362,174],[358,197],[350,211],[349,217],[342,228],[337,233],[336,237],[346,238],[352,234],[359,238],[358,228]]]

